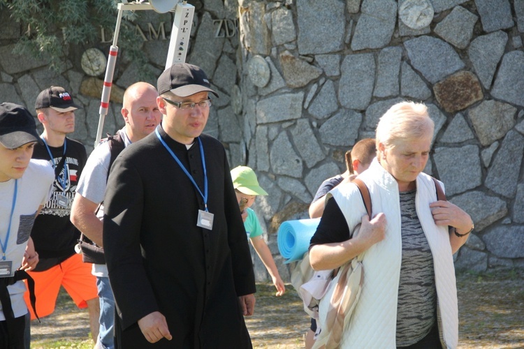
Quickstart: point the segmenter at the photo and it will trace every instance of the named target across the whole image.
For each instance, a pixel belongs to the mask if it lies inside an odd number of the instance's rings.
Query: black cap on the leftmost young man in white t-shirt
[[[31,113],[22,105],[1,103],[0,143],[8,149],[15,149],[29,142],[42,144]]]

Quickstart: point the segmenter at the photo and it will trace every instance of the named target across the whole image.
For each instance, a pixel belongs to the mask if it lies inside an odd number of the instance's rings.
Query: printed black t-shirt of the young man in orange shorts
[[[46,265],[46,259],[57,264],[75,253],[75,245],[80,238],[80,232],[71,223],[71,205],[78,185],[78,179],[87,161],[87,153],[82,143],[66,138],[66,160],[60,164],[64,156],[64,147],[49,147],[53,156],[54,167],[61,168],[54,179],[52,195],[42,211],[36,217],[31,237],[40,257],[38,269],[51,267]],[[50,161],[50,154],[45,144],[36,144],[33,158]],[[37,270],[38,270],[37,269]]]

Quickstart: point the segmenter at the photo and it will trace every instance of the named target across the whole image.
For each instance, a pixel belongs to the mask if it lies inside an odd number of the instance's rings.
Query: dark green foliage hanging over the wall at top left
[[[68,52],[79,45],[97,40],[100,27],[107,33],[115,30],[119,0],[0,0],[0,10],[22,24],[24,35],[15,45],[15,53],[48,59],[59,70]],[[117,45],[129,59],[143,63],[147,59],[134,33],[136,14],[124,11]]]

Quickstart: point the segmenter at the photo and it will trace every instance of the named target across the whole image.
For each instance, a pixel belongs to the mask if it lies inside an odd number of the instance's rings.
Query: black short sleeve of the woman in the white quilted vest
[[[342,210],[333,198],[328,200],[319,226],[311,238],[310,248],[314,245],[344,242],[350,238],[349,228]]]

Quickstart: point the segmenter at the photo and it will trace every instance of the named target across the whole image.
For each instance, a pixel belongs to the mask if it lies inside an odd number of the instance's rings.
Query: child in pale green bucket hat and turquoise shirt
[[[286,287],[278,274],[277,265],[275,265],[271,251],[268,245],[265,244],[259,218],[256,217],[255,211],[249,208],[254,204],[257,195],[268,195],[268,193],[259,185],[259,180],[256,179],[256,174],[252,168],[247,166],[233,168],[231,170],[231,178],[233,179],[233,188],[235,188],[247,236],[264,263],[265,268],[268,269],[273,285],[277,288],[276,295],[282,296],[286,291]]]

